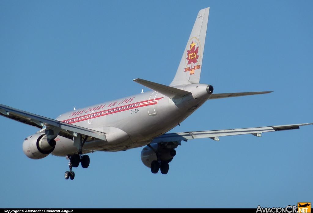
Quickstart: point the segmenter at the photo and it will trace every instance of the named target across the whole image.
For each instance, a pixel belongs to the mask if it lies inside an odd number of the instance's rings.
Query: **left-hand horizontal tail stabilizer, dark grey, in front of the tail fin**
[[[185,95],[189,94],[190,92],[182,90],[182,89],[177,89],[174,87],[166,86],[163,84],[157,84],[151,81],[146,81],[143,79],[134,79],[133,81],[137,82],[138,84],[141,84],[149,89],[152,89],[158,93],[161,93],[170,99],[177,99],[177,98],[182,98]]]

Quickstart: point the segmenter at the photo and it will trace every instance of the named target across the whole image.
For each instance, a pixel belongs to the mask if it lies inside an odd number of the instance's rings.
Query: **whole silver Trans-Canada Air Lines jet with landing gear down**
[[[25,138],[23,151],[31,159],[42,159],[49,154],[69,160],[65,179],[75,177],[73,167],[88,168],[88,153],[94,151],[123,151],[143,147],[141,160],[156,174],[167,174],[169,163],[176,155],[181,141],[229,135],[253,134],[299,129],[305,124],[290,124],[242,129],[222,129],[169,133],[207,100],[267,94],[241,92],[214,94],[210,84],[199,84],[209,9],[199,11],[182,59],[172,83],[167,86],[144,79],[134,79],[152,91],[76,109],[56,119],[25,112],[0,104],[0,114],[9,119],[38,127],[35,134]]]

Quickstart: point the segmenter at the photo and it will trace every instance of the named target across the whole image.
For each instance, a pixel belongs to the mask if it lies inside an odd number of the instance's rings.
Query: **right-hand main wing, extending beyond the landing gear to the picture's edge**
[[[192,140],[197,138],[211,138],[219,141],[218,137],[239,135],[239,134],[253,134],[254,136],[262,137],[263,132],[274,132],[280,130],[299,129],[300,126],[310,125],[308,124],[290,124],[280,126],[265,126],[243,129],[222,129],[222,130],[210,130],[210,131],[197,131],[197,132],[179,132],[179,133],[165,133],[151,141],[151,144],[164,143],[164,142],[180,142],[182,140]]]

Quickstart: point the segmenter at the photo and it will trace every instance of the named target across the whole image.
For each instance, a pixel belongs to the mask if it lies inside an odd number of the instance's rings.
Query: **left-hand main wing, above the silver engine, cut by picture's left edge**
[[[73,139],[77,134],[83,134],[90,137],[106,140],[105,134],[103,132],[98,132],[92,129],[76,126],[73,124],[66,124],[54,119],[46,118],[40,115],[25,112],[20,109],[15,109],[9,106],[0,104],[0,115],[22,122],[24,124],[29,124],[42,129],[43,126],[59,127],[61,129],[59,135]]]

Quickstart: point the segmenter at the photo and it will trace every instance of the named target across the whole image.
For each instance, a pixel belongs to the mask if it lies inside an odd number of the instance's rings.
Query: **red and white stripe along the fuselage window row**
[[[164,97],[162,97],[162,98],[164,98]],[[63,120],[61,122],[67,123],[67,124],[73,124],[73,123],[77,123],[80,121],[88,120],[90,117],[91,118],[98,118],[100,116],[104,116],[104,115],[108,115],[108,114],[113,114],[113,113],[123,112],[123,111],[129,110],[129,109],[136,109],[139,107],[148,106],[148,104],[150,106],[150,105],[157,104],[157,102],[162,98],[156,98],[156,99],[151,99],[149,101],[146,100],[146,101],[136,102],[133,104],[127,104],[127,105],[115,107],[112,109],[106,109],[106,110],[103,110],[100,112],[90,113],[88,115],[83,115],[83,116],[79,116],[79,117],[75,117],[75,118],[71,118],[71,119],[66,119],[66,120]]]

